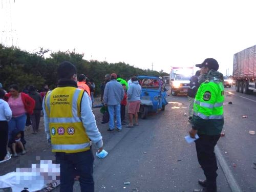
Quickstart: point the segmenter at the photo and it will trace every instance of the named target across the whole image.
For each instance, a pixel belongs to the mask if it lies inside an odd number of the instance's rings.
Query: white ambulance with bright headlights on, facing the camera
[[[187,93],[189,79],[194,74],[193,67],[172,67],[170,70],[170,90],[173,96]]]

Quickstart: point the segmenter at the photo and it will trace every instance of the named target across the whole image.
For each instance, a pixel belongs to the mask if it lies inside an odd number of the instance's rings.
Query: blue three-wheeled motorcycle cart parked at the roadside
[[[137,76],[141,86],[140,111],[142,119],[147,118],[148,113],[157,113],[159,109],[164,111],[167,90],[162,86],[162,81],[155,76]]]

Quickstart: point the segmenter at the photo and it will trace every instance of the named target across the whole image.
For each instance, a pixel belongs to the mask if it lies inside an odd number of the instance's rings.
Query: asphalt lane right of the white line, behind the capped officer
[[[249,134],[249,131],[256,132],[256,95],[237,93],[234,88],[225,90],[226,136],[218,146],[241,190],[256,191],[256,169],[253,168],[256,168],[253,165],[256,162],[256,136]],[[227,104],[230,101],[233,104]]]

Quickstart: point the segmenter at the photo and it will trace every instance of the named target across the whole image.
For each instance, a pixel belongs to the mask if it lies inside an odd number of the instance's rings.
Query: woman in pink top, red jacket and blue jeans
[[[26,124],[26,113],[32,114],[35,107],[35,101],[29,95],[18,92],[18,86],[13,84],[10,86],[9,93],[6,94],[6,101],[12,110],[12,118],[8,122],[9,139],[12,137],[14,130],[20,131],[22,137],[21,141],[26,144],[24,139],[24,129]]]

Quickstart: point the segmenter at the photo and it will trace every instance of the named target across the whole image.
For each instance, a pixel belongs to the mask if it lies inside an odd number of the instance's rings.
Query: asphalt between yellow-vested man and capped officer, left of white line
[[[100,126],[109,156],[95,160],[95,191],[169,192],[200,188],[197,181],[204,175],[197,162],[195,144],[184,140],[191,126],[184,115],[187,98],[170,96],[168,102],[164,112],[140,120],[140,126],[133,129],[124,127],[121,133],[106,133],[107,126]],[[218,174],[218,191],[231,191],[222,169]],[[74,188],[80,191],[78,183]]]

